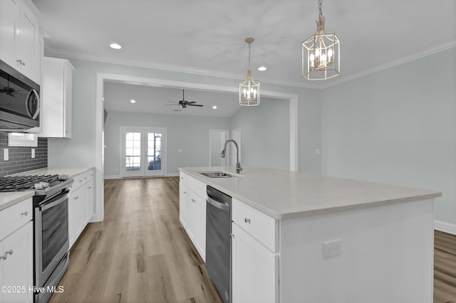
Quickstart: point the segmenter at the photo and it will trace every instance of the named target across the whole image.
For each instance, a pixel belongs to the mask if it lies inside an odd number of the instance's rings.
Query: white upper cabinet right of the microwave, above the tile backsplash
[[[73,70],[68,60],[43,58],[43,127],[40,137],[71,138]]]

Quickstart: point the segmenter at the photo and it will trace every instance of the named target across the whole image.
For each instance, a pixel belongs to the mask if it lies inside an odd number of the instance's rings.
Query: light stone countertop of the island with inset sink
[[[233,167],[179,170],[278,220],[442,196],[438,191],[260,167],[244,167],[237,178],[209,178],[199,174],[204,171],[235,174]]]

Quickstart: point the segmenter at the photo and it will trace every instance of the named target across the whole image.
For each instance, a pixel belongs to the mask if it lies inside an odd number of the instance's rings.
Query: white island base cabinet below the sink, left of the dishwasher
[[[205,184],[180,174],[179,218],[187,235],[206,260],[206,199]],[[203,196],[204,195],[204,196]]]

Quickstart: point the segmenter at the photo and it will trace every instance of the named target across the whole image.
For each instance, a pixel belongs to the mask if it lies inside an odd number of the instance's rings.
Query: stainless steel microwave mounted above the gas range
[[[40,126],[40,85],[0,60],[0,129]]]

